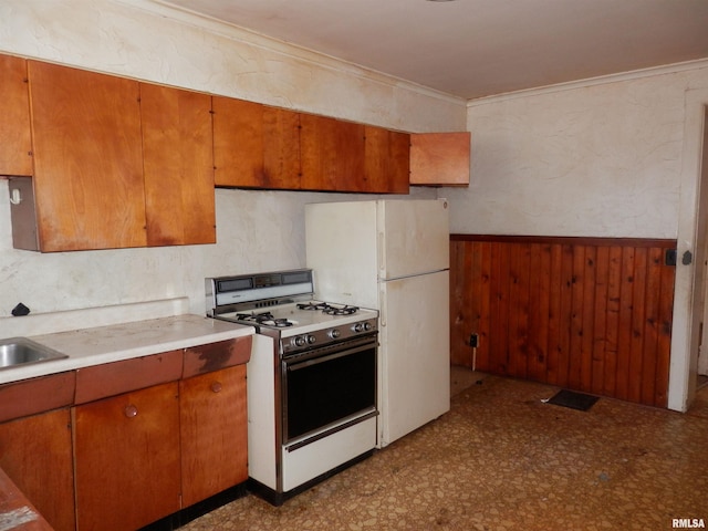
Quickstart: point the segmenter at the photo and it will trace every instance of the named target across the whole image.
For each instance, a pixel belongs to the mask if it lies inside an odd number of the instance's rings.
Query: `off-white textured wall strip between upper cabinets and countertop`
[[[216,244],[39,253],[12,248],[8,194],[0,180],[0,319],[20,302],[32,317],[174,298],[188,299],[180,313],[204,315],[205,277],[304,267],[305,204],[376,197],[217,189]],[[415,188],[405,197],[435,195]],[[11,317],[13,325],[2,324],[0,331],[7,326],[12,335],[19,320],[28,317]],[[38,333],[45,332],[29,335]]]

